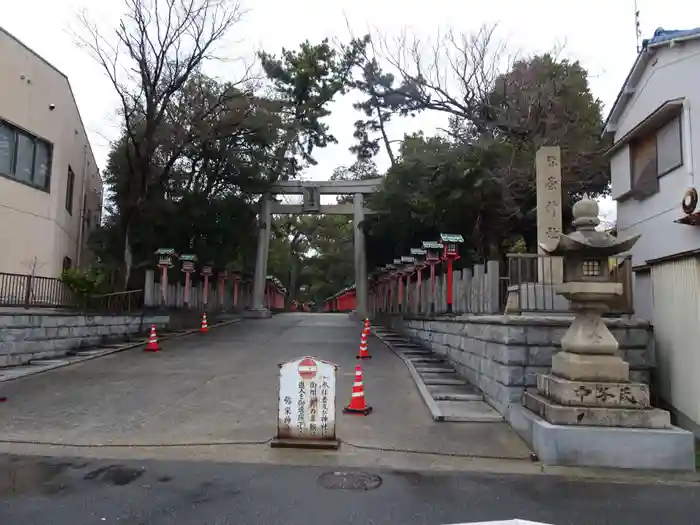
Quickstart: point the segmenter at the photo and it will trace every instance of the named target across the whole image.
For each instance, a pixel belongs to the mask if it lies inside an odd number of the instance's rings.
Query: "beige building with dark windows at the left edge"
[[[68,78],[0,28],[0,272],[58,277],[88,264],[101,215],[102,180]]]

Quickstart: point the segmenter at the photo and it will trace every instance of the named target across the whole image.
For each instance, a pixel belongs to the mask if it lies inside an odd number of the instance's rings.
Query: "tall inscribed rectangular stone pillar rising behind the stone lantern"
[[[537,244],[551,243],[562,234],[561,216],[561,149],[545,146],[535,156],[537,172]],[[546,255],[542,249],[539,253]],[[540,258],[538,281],[544,284],[562,282],[561,257]]]

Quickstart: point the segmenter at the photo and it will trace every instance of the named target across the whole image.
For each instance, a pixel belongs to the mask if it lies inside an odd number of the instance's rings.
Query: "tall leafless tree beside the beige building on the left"
[[[124,0],[124,4],[126,13],[113,34],[106,35],[83,12],[79,17],[83,31],[76,37],[114,87],[128,140],[129,190],[120,203],[126,288],[131,225],[149,189],[167,181],[180,153],[195,138],[195,129],[183,127],[181,136],[173,137],[179,147],[156,163],[161,126],[176,94],[205,61],[215,58],[216,44],[240,20],[242,11],[235,0]],[[222,97],[204,111],[214,112],[225,103]]]

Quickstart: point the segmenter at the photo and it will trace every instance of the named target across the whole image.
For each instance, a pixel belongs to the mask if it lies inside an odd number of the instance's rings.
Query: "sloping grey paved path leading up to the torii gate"
[[[341,314],[282,314],[171,340],[157,354],[131,350],[5,383],[0,393],[9,402],[0,405],[0,439],[77,445],[265,441],[275,433],[277,364],[303,355],[339,364],[341,408],[350,400],[360,331]],[[525,463],[529,451],[505,423],[434,422],[403,362],[374,338],[369,347],[373,359],[363,363],[363,371],[374,412],[366,418],[339,414],[341,440]],[[0,445],[0,451],[10,448],[18,450]],[[295,454],[258,446],[244,456],[273,462],[358,454],[381,462],[389,457],[377,459],[376,451],[363,450],[344,445],[340,452]],[[443,463],[449,468],[453,460]]]

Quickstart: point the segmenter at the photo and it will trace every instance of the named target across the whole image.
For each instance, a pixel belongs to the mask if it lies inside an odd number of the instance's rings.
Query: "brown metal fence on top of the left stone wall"
[[[142,306],[143,290],[80,297],[55,277],[0,272],[0,307],[131,312]]]

